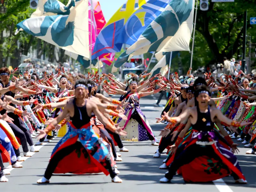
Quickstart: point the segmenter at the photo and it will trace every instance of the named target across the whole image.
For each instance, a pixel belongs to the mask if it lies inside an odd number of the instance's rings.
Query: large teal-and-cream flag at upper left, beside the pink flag
[[[75,7],[74,7],[75,6]],[[17,24],[27,33],[85,58],[89,54],[88,0],[40,0],[32,17]]]

